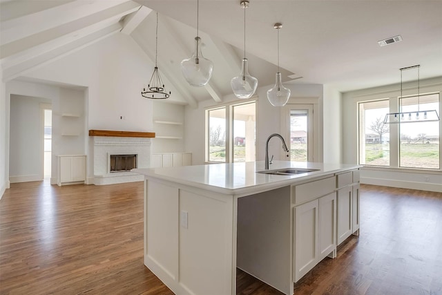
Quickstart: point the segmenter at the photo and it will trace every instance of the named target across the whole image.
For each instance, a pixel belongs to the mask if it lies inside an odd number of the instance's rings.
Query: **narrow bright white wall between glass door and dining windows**
[[[324,162],[343,161],[343,115],[342,94],[324,85]]]

